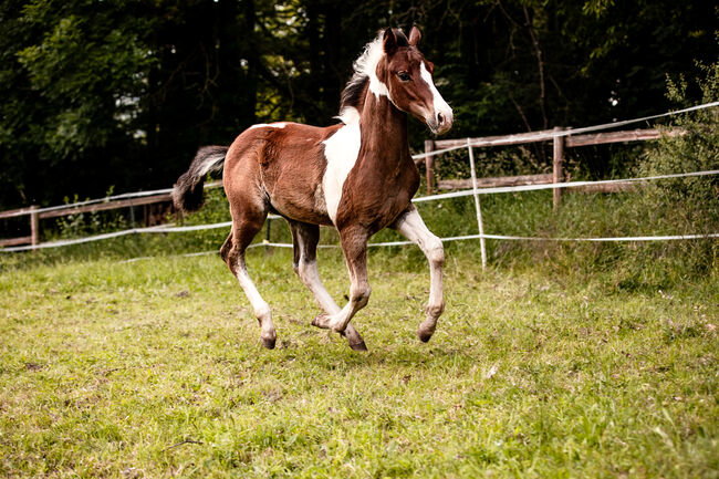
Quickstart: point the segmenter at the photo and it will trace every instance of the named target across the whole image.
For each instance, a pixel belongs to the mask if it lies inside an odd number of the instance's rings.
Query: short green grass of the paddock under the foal
[[[0,269],[2,477],[719,477],[718,274],[493,265],[451,244],[447,310],[416,339],[428,272],[369,258],[352,352],[290,251],[249,254],[278,348],[218,257]],[[321,252],[329,291],[348,283]]]

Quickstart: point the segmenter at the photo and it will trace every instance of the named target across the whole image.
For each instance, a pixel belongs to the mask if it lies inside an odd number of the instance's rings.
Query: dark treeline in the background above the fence
[[[463,136],[677,106],[667,76],[716,62],[717,19],[677,0],[2,0],[0,208],[168,187],[199,145],[253,123],[331,124],[386,25],[421,28]]]

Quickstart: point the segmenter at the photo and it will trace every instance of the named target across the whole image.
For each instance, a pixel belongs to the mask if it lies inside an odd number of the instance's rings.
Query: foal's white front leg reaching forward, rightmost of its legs
[[[445,248],[441,240],[433,235],[421,220],[417,208],[410,205],[404,214],[392,225],[409,241],[415,242],[429,261],[429,301],[427,302],[427,317],[419,325],[417,335],[425,343],[429,341],[437,326],[439,315],[445,311],[442,296],[442,269],[445,265]]]

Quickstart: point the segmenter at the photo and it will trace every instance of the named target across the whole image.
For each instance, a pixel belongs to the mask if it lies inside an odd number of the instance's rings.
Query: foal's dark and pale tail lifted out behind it
[[[202,146],[195,155],[190,167],[173,188],[173,202],[178,211],[197,211],[205,201],[205,175],[220,171],[225,165],[227,146]]]

